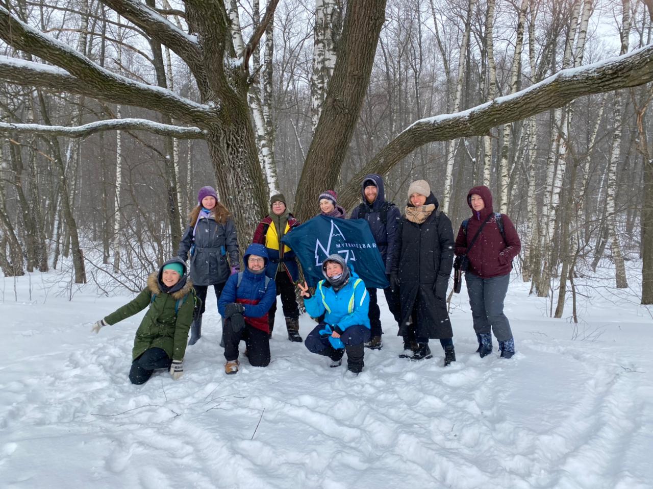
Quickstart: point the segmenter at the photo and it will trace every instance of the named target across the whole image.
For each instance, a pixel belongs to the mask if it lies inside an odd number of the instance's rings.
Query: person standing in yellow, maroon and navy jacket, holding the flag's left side
[[[272,212],[265,216],[254,231],[252,243],[264,244],[268,252],[268,265],[265,273],[276,283],[277,294],[281,294],[281,306],[285,318],[288,339],[302,342],[299,335],[299,307],[295,297],[295,282],[299,279],[299,268],[295,252],[289,246],[281,243],[281,238],[299,226],[299,221],[291,214],[283,194],[270,197]],[[277,301],[272,303],[268,312],[270,337],[274,329],[274,316],[277,311]]]

